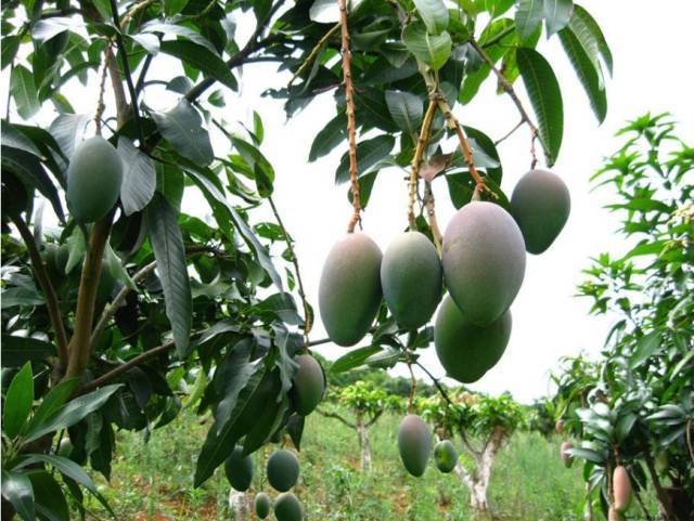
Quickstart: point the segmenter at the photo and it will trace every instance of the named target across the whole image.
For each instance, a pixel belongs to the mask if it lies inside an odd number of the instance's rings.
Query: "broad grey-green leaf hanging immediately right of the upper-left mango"
[[[127,138],[118,139],[118,155],[123,160],[120,201],[126,216],[142,210],[156,190],[156,169],[150,156],[140,152]]]

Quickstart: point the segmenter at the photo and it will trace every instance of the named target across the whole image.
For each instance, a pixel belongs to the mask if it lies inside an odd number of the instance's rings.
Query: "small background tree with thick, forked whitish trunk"
[[[499,451],[524,425],[523,406],[507,394],[486,396],[466,391],[419,403],[422,417],[434,425],[440,439],[460,437],[465,457],[455,472],[470,491],[470,502],[478,511],[489,509],[487,489]]]

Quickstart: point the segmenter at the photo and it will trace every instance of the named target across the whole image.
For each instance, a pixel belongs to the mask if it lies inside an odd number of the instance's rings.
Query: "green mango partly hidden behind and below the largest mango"
[[[448,376],[462,383],[479,380],[503,355],[511,325],[511,311],[488,326],[473,324],[447,296],[436,315],[434,346]]]

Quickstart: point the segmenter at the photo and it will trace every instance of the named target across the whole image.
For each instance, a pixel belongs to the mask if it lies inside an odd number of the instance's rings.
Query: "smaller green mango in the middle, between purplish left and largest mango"
[[[383,297],[398,324],[416,329],[441,300],[442,269],[436,248],[420,232],[399,234],[381,263]]]

